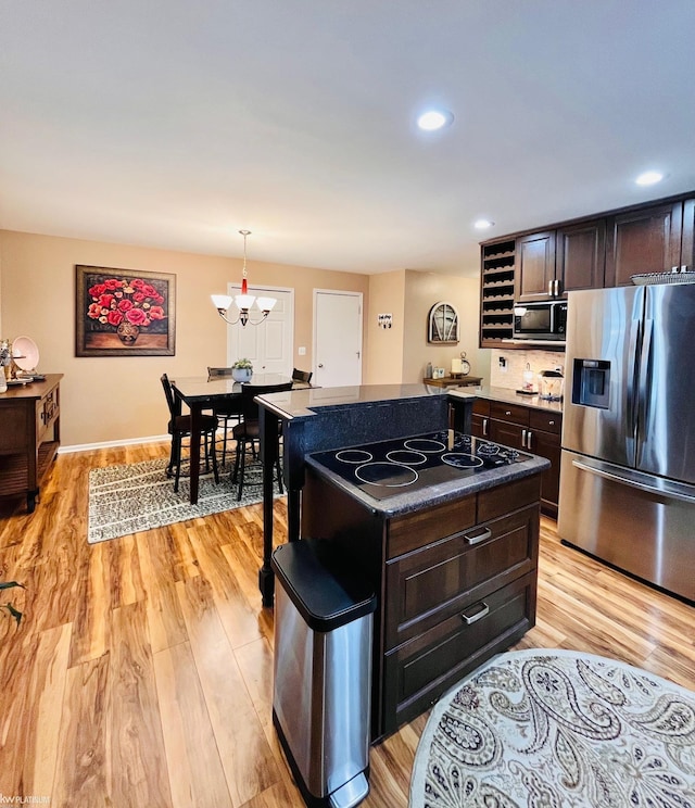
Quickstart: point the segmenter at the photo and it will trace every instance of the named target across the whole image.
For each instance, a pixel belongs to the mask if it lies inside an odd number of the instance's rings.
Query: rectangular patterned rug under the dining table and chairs
[[[239,501],[227,470],[220,471],[219,484],[212,474],[201,475],[198,505],[191,505],[188,478],[181,477],[178,493],[174,493],[174,479],[166,476],[166,460],[146,460],[92,469],[87,541],[94,544],[263,500],[260,471],[247,471],[249,487],[244,483]],[[279,496],[277,489],[275,495]]]

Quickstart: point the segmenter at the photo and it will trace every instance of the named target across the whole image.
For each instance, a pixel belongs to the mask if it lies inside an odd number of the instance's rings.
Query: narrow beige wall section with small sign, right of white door
[[[365,353],[366,384],[400,384],[403,381],[403,337],[405,319],[405,270],[372,275],[369,278],[367,337]],[[380,328],[379,314],[392,314],[391,328]]]

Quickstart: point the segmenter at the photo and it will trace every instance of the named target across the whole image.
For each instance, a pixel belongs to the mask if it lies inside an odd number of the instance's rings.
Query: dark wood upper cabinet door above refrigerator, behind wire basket
[[[682,229],[682,201],[610,216],[605,286],[631,286],[633,275],[680,266]]]

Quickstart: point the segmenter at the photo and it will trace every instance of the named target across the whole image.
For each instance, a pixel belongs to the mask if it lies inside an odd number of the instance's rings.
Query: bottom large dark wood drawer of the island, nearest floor
[[[478,617],[480,616],[480,617]],[[478,618],[478,619],[476,619]],[[535,573],[518,578],[386,655],[384,731],[419,716],[535,622]]]

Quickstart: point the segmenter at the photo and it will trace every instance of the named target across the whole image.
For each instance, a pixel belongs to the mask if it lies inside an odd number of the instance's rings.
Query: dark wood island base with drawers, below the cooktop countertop
[[[307,470],[302,535],[336,541],[380,593],[377,741],[535,623],[540,475],[388,516]]]

